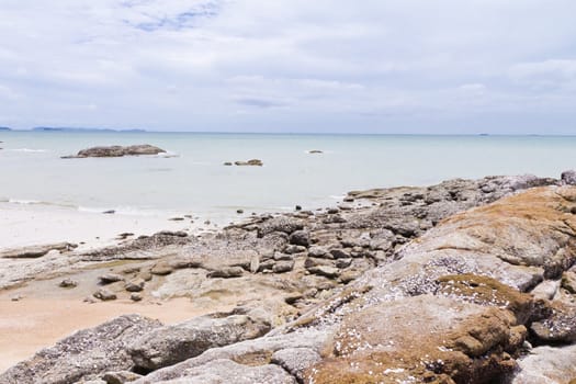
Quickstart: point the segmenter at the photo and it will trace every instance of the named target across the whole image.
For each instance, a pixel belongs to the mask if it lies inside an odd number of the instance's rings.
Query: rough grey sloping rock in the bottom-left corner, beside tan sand
[[[76,383],[128,371],[133,361],[125,346],[159,326],[157,320],[126,315],[80,330],[0,374],[0,383]]]

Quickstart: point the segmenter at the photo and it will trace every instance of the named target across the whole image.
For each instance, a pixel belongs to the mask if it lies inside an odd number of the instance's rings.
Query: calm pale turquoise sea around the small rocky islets
[[[351,190],[576,168],[576,136],[0,132],[0,202],[127,215],[312,210]],[[60,159],[133,144],[169,156]],[[264,166],[223,165],[252,158]]]

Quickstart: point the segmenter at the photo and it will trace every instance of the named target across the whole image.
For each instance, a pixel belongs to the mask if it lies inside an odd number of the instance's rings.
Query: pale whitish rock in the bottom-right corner
[[[510,384],[563,384],[576,376],[576,346],[533,348],[518,360]]]

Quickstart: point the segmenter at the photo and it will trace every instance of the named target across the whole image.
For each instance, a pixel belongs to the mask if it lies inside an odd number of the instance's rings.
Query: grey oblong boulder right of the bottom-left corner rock
[[[270,323],[250,315],[214,314],[155,329],[128,346],[136,366],[157,370],[196,357],[207,349],[253,339]]]

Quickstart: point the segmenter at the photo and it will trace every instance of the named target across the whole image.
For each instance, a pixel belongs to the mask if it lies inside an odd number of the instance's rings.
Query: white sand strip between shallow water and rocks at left
[[[169,221],[173,216],[102,214],[58,206],[0,203],[0,250],[83,241],[86,244],[80,246],[81,250],[114,244],[122,233],[133,233],[135,236],[151,235],[159,230],[196,233],[200,227],[208,227],[200,221],[192,224],[189,218],[182,222]]]

